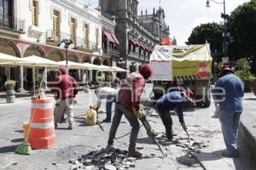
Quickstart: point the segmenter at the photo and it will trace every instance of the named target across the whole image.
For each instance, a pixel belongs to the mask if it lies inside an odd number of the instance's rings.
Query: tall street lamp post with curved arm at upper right
[[[228,14],[226,14],[226,3],[225,3],[225,0],[222,3],[219,3],[219,2],[214,1],[214,0],[207,0],[207,8],[210,8],[210,1],[212,3],[223,4],[223,7],[224,7],[224,13],[221,14],[221,18],[224,19],[223,53],[224,53],[224,57],[226,57],[227,56],[227,51],[228,51],[228,47],[227,47],[227,26],[226,26]]]

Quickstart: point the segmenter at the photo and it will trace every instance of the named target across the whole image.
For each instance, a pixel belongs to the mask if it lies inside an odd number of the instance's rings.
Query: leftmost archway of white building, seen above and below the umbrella
[[[0,42],[0,52],[3,54],[9,54],[15,57],[20,57],[19,48],[16,47],[15,43],[7,39],[2,39]],[[20,71],[17,66],[1,66],[0,65],[0,91],[3,90],[3,84],[7,78],[20,82]],[[15,88],[19,88],[17,85]]]

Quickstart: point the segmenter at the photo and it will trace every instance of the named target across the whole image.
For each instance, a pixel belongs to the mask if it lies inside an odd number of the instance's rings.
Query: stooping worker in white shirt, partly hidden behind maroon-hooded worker
[[[96,112],[98,112],[99,108],[102,105],[102,99],[107,99],[106,103],[106,111],[107,117],[102,122],[111,122],[112,115],[112,105],[116,99],[118,89],[115,88],[97,88],[95,94],[97,96],[97,104],[96,104]]]

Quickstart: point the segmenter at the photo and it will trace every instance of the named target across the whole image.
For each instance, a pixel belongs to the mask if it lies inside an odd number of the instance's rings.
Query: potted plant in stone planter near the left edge
[[[6,102],[15,103],[15,84],[13,80],[4,82],[4,88],[6,89]]]

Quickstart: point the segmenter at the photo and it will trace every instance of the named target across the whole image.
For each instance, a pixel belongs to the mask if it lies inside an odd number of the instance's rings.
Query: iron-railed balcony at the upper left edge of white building
[[[25,33],[25,22],[25,20],[20,20],[12,16],[0,14],[0,27],[6,28],[7,30]]]

